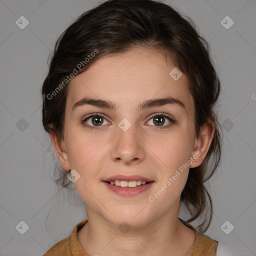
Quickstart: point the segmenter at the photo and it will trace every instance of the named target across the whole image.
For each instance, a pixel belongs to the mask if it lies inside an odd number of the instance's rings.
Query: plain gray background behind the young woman
[[[235,255],[256,255],[256,1],[164,2],[195,21],[210,43],[222,85],[223,154],[209,181],[214,215],[205,234]],[[57,37],[98,3],[0,0],[1,256],[42,255],[86,218],[77,192],[69,197],[64,190],[58,194],[52,181],[57,158],[41,124],[40,88]],[[22,15],[29,21],[24,29],[15,24]],[[234,21],[229,29],[220,23],[226,15]],[[15,228],[22,220],[29,227],[24,234]],[[227,220],[234,226],[229,234],[220,228]]]

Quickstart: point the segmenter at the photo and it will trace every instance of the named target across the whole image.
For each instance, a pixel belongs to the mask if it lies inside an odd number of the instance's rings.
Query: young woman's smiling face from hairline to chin
[[[88,216],[142,226],[178,212],[189,170],[184,164],[198,166],[203,153],[196,152],[205,143],[195,137],[186,76],[174,80],[169,75],[174,67],[162,55],[138,47],[97,60],[68,85],[64,139],[60,149],[54,147],[62,167],[80,175],[74,185]],[[74,106],[84,97],[106,100],[113,108],[88,102]],[[143,104],[167,97],[176,101]],[[118,174],[153,182],[138,194],[120,195],[104,181]]]

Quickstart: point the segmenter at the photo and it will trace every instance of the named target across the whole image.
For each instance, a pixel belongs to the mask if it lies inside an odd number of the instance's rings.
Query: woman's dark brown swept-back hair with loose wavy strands
[[[200,36],[193,20],[187,18],[189,21],[171,6],[153,0],[107,0],[81,14],[55,43],[49,71],[41,89],[42,123],[46,132],[55,132],[63,139],[69,84],[66,79],[74,69],[77,75],[102,56],[122,53],[135,46],[150,47],[161,52],[188,79],[188,89],[195,104],[196,136],[209,121],[215,124],[209,150],[199,166],[190,168],[180,196],[180,201],[191,215],[188,222],[204,217],[198,225],[199,230],[204,232],[212,218],[212,202],[204,182],[212,176],[221,155],[221,128],[213,109],[219,95],[220,81],[210,57],[209,44]],[[80,69],[78,63],[82,63]],[[56,184],[68,187],[71,181],[66,174],[65,170],[55,165]],[[207,216],[209,218],[206,220]]]

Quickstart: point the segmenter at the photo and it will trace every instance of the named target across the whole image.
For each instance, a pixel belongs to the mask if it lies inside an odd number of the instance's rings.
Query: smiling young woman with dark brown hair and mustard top
[[[107,0],[80,15],[56,42],[42,122],[62,167],[56,182],[74,184],[87,219],[44,255],[220,255],[202,234],[219,91],[207,42],[169,5]]]

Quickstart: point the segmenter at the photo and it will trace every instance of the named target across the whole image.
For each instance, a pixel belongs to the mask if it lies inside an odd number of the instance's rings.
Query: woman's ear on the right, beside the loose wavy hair
[[[209,150],[214,131],[215,125],[212,120],[201,127],[199,135],[194,140],[192,154],[190,155],[193,161],[189,164],[190,168],[197,167],[202,163]],[[197,157],[195,158],[195,156]]]

